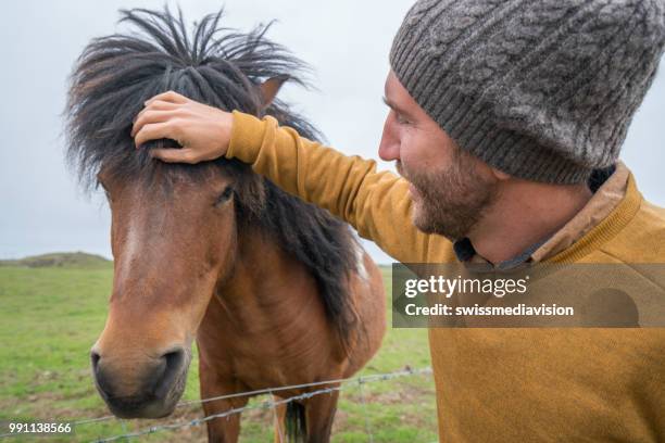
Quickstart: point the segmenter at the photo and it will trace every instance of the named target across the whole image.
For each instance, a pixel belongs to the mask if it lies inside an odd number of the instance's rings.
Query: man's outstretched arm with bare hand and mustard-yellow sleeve
[[[155,96],[137,116],[131,135],[140,147],[171,138],[183,149],[153,149],[165,162],[198,163],[236,157],[278,187],[350,223],[400,262],[427,262],[448,240],[417,230],[411,219],[407,182],[374,161],[346,156],[302,138],[273,117],[233,115],[175,92]],[[431,257],[429,257],[431,258]]]

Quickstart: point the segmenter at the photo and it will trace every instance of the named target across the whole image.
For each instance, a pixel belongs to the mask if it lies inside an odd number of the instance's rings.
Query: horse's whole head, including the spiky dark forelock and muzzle
[[[264,185],[235,162],[152,160],[149,149],[176,143],[137,151],[133,118],[170,89],[221,109],[284,116],[273,97],[300,63],[265,40],[265,28],[219,36],[219,14],[191,36],[168,11],[123,14],[143,34],[96,39],[78,59],[68,154],[89,185],[104,188],[112,212],[113,292],[91,352],[97,388],[117,416],[161,417],[183,393],[192,339],[235,264],[238,213],[261,204]]]

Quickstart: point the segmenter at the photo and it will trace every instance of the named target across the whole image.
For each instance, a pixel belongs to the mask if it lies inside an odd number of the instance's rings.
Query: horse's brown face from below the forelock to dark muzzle
[[[99,174],[112,213],[114,279],[91,359],[99,392],[125,417],[163,416],[180,397],[197,328],[234,265],[244,180],[213,166],[153,167],[152,183]]]

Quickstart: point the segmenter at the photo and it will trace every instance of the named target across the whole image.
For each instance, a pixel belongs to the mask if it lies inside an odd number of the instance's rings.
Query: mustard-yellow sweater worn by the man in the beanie
[[[234,112],[226,154],[343,218],[403,263],[451,263],[418,231],[407,183],[373,161]],[[665,263],[665,210],[632,176],[593,229],[548,262]],[[665,329],[430,329],[442,442],[665,441]]]

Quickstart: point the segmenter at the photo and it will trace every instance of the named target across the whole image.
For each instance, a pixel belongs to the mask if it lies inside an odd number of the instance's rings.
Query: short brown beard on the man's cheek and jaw
[[[495,183],[476,174],[470,154],[457,151],[444,170],[398,170],[416,189],[413,223],[422,231],[452,241],[467,237],[497,197]]]

